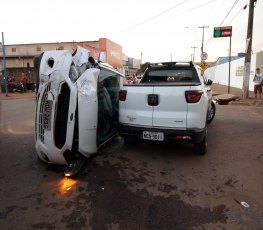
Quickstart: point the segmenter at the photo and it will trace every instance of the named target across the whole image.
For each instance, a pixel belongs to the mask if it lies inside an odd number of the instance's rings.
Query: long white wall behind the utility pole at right
[[[256,67],[261,68],[263,71],[263,63],[260,63],[262,66],[256,66],[257,54],[253,54],[251,57],[250,64],[250,81],[249,81],[249,90],[253,91],[253,77],[255,74]],[[236,88],[243,88],[243,74],[244,74],[244,62],[245,58],[240,58],[234,61],[231,61],[230,67],[230,86]],[[261,73],[262,73],[261,71]],[[213,80],[214,83],[221,85],[228,85],[228,76],[229,76],[229,63],[224,63],[214,67],[210,67],[205,71],[207,78]]]

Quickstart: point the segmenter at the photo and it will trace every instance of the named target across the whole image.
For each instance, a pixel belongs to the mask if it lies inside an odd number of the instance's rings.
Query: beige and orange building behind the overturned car
[[[100,52],[105,53],[106,62],[116,69],[123,66],[122,46],[107,39],[100,38],[98,41],[81,42],[57,42],[57,43],[34,43],[5,45],[7,76],[20,81],[22,72],[26,73],[28,82],[36,82],[37,69],[34,67],[34,58],[47,50],[69,50],[73,52],[77,46],[89,50],[96,60]],[[3,76],[3,53],[0,52],[0,74]],[[3,80],[3,77],[1,77]]]

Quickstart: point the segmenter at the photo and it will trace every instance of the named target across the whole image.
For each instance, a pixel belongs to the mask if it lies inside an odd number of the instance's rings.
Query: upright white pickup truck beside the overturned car
[[[119,92],[119,134],[126,142],[189,142],[205,154],[215,113],[211,84],[192,62],[150,64],[139,84]]]

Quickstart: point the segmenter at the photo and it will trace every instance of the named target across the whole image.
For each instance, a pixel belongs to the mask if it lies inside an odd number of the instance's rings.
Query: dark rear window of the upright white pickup
[[[141,83],[200,83],[200,80],[193,67],[150,68],[144,74]]]

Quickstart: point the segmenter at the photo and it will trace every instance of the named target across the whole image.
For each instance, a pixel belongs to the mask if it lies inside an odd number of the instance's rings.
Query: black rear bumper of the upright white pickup
[[[200,143],[206,134],[206,128],[177,130],[119,124],[119,134],[124,138],[143,139],[143,131],[161,132],[164,134],[164,141],[179,141],[193,144]]]

